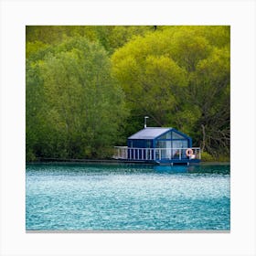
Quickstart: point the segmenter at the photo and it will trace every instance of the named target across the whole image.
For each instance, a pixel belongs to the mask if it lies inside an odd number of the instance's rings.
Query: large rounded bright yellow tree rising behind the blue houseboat
[[[134,119],[149,115],[228,154],[229,27],[163,27],[118,48],[112,67]]]

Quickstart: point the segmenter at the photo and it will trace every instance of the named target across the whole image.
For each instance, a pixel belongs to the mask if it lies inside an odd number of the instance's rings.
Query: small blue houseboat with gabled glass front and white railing
[[[144,127],[127,139],[127,146],[115,146],[115,159],[139,163],[199,163],[201,151],[192,138],[175,128]]]

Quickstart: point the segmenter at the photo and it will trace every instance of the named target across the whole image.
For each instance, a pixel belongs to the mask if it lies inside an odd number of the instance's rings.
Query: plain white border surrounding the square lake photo
[[[0,255],[256,255],[253,0],[0,0],[0,4]],[[231,26],[231,232],[26,233],[25,26],[162,24]],[[248,159],[240,152],[244,138],[251,142],[244,148]]]

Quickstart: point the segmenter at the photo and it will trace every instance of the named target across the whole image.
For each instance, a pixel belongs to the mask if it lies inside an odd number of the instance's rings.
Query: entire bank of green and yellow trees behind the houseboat
[[[145,115],[229,155],[229,26],[27,26],[26,36],[27,159],[110,156]]]

